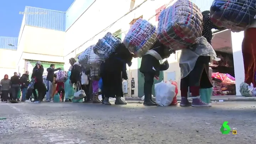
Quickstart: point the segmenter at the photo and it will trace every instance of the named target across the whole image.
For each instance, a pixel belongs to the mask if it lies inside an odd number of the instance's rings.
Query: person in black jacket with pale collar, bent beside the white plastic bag
[[[168,58],[173,51],[170,48],[165,47],[157,40],[151,50],[149,50],[141,60],[139,71],[144,75],[144,105],[145,106],[157,106],[152,100],[152,86],[154,84],[154,77],[158,78],[160,71],[165,71],[169,68],[169,63],[166,60],[163,64],[160,64],[160,60]]]

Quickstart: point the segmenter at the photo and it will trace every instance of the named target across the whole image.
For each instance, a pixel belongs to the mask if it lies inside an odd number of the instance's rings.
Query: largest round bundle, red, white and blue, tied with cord
[[[183,49],[202,36],[203,15],[190,0],[177,0],[160,13],[157,37],[165,46]]]

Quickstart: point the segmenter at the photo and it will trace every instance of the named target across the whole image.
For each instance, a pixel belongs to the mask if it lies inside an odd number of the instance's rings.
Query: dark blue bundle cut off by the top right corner
[[[216,26],[243,31],[255,21],[256,0],[214,0],[210,12]]]

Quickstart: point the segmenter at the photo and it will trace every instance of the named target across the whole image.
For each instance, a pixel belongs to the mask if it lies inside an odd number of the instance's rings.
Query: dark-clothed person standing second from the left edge
[[[11,94],[12,100],[10,103],[17,103],[16,99],[20,90],[20,78],[17,72],[14,72],[14,76],[11,77]]]

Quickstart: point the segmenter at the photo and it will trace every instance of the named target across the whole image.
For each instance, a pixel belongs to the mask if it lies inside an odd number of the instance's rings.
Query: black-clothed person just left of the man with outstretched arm
[[[36,62],[36,66],[33,68],[32,76],[31,78],[35,78],[35,85],[33,89],[33,94],[35,97],[35,101],[41,102],[46,94],[46,87],[45,84],[43,84],[43,65],[41,65],[41,62]],[[36,96],[36,89],[38,91],[38,97]]]

